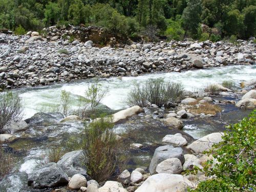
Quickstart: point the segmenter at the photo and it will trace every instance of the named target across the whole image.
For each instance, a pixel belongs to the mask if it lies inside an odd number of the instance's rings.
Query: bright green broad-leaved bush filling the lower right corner
[[[256,191],[255,127],[256,110],[241,122],[226,127],[223,141],[207,152],[218,162],[210,168],[213,161],[208,161],[209,166],[203,170],[211,179],[200,182],[192,191]]]

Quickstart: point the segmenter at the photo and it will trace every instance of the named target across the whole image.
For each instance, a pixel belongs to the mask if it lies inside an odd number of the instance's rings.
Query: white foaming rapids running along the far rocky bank
[[[102,87],[108,87],[109,89],[102,103],[113,110],[125,108],[126,104],[124,101],[133,83],[144,83],[146,79],[159,77],[164,78],[165,81],[181,82],[185,90],[196,91],[205,87],[207,84],[221,83],[223,80],[233,80],[239,84],[241,81],[256,78],[256,66],[228,66],[207,70],[190,70],[181,73],[146,74],[138,77],[122,77],[122,80],[116,77],[101,79],[100,84]],[[45,104],[58,104],[61,90],[84,96],[84,92],[88,89],[88,82],[90,81],[91,79],[76,83],[57,84],[31,91],[26,91],[25,89],[25,92],[20,94],[25,103],[24,119],[33,116]]]

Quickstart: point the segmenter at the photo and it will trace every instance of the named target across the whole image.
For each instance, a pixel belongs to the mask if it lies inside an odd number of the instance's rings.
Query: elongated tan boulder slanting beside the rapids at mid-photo
[[[117,123],[118,121],[122,119],[127,119],[131,117],[132,115],[136,115],[138,113],[144,113],[144,110],[140,106],[132,106],[131,108],[128,108],[126,110],[119,111],[113,115],[113,122]]]

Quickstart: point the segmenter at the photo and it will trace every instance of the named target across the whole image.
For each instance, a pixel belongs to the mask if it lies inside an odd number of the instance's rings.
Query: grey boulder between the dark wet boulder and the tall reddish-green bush
[[[81,150],[73,151],[63,155],[57,164],[69,177],[75,174],[81,174],[88,179],[86,167],[83,165],[82,159],[84,159],[84,157]]]

